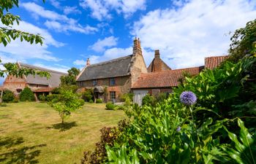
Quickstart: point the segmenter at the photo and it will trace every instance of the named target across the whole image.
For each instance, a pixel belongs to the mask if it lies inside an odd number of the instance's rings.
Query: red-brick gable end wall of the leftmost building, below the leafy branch
[[[11,90],[17,96],[19,93],[17,89],[24,89],[27,86],[26,79],[15,77],[15,76],[8,76],[4,80],[4,89]]]

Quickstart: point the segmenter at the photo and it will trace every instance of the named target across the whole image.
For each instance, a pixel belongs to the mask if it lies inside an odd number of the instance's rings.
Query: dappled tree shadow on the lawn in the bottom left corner
[[[23,146],[23,138],[0,138],[0,149],[4,149],[0,154],[0,163],[39,163],[36,157],[40,154],[40,147],[45,147],[46,144],[39,144],[31,147]]]

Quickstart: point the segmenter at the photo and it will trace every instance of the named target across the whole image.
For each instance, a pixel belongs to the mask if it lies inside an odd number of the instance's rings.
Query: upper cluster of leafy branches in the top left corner
[[[39,43],[42,45],[43,37],[39,34],[30,34],[28,32],[19,31],[12,28],[15,23],[19,25],[20,16],[12,15],[9,10],[13,7],[18,7],[18,2],[18,0],[0,1],[0,19],[1,23],[4,25],[4,27],[0,27],[0,44],[2,43],[4,46],[7,46],[7,44],[12,40],[20,38],[21,42],[25,40],[31,44]]]

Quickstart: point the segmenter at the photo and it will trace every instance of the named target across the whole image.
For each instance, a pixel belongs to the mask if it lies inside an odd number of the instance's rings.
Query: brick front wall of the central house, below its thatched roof
[[[108,100],[110,101],[110,91],[116,92],[117,101],[120,98],[120,95],[129,93],[131,91],[131,77],[115,77],[116,85],[110,86],[110,78],[108,79],[97,79],[97,86],[108,87]],[[82,88],[94,88],[93,80],[87,80],[83,82],[78,82],[78,86]]]

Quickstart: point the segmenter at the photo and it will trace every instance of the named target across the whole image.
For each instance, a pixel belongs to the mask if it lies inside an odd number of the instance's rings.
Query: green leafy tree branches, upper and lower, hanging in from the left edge
[[[25,40],[26,42],[30,42],[31,44],[35,42],[36,44],[39,43],[42,45],[43,38],[39,34],[30,34],[12,28],[15,23],[19,25],[20,16],[12,15],[9,11],[14,7],[18,7],[18,3],[18,0],[0,1],[0,20],[3,25],[2,27],[0,26],[0,44],[4,44],[5,47],[8,43],[12,42],[12,40],[19,38],[20,42],[23,42],[23,40]],[[46,71],[18,68],[15,63],[2,63],[1,59],[0,65],[4,67],[4,69],[0,69],[0,77],[4,77],[4,74],[10,74],[16,77],[22,77],[23,75],[28,74],[38,74],[41,77],[50,77],[50,74]]]

